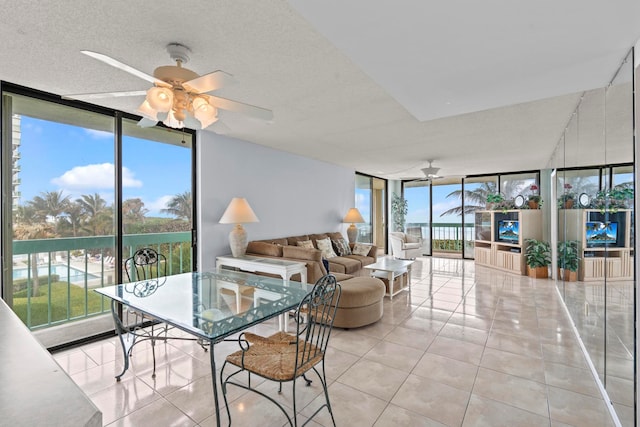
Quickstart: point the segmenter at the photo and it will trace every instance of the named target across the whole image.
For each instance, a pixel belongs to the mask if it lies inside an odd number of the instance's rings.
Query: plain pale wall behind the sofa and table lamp
[[[244,224],[249,240],[342,231],[354,206],[352,169],[246,141],[198,132],[198,268],[231,253],[232,224],[218,221],[233,197],[245,197],[260,222]]]

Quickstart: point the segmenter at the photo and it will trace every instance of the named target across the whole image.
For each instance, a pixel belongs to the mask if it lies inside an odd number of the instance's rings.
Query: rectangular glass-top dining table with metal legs
[[[230,287],[237,288],[243,295],[240,307],[237,307],[233,295],[224,293]],[[295,309],[311,289],[312,285],[305,283],[221,270],[183,273],[108,286],[95,291],[111,299],[111,313],[124,355],[124,370],[116,376],[118,381],[129,367],[131,349],[137,342],[172,339],[166,332],[162,332],[164,337],[150,335],[154,333],[150,332],[153,330],[150,327],[140,329],[136,325],[126,325],[121,318],[121,305],[126,306],[126,310],[130,312],[153,319],[156,324],[165,323],[209,344],[216,423],[220,426],[215,344]],[[156,329],[160,330],[165,331],[164,328]]]

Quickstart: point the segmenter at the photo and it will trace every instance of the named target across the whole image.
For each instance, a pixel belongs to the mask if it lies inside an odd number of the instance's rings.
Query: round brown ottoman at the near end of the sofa
[[[333,326],[358,328],[382,318],[385,286],[375,277],[354,277],[340,282],[342,293]]]

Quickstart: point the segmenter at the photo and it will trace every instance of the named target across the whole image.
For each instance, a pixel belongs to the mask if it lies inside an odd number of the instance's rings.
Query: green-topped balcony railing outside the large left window
[[[167,274],[191,271],[191,232],[123,235],[122,259],[142,247],[167,258]],[[13,308],[32,330],[109,311],[95,288],[113,285],[115,236],[13,241]]]

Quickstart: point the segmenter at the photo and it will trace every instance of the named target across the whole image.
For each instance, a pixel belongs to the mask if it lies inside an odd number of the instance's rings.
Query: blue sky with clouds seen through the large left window
[[[22,116],[20,203],[44,191],[75,200],[98,193],[114,200],[113,134]],[[147,216],[176,194],[191,191],[191,150],[138,138],[123,139],[123,199],[139,197]]]

